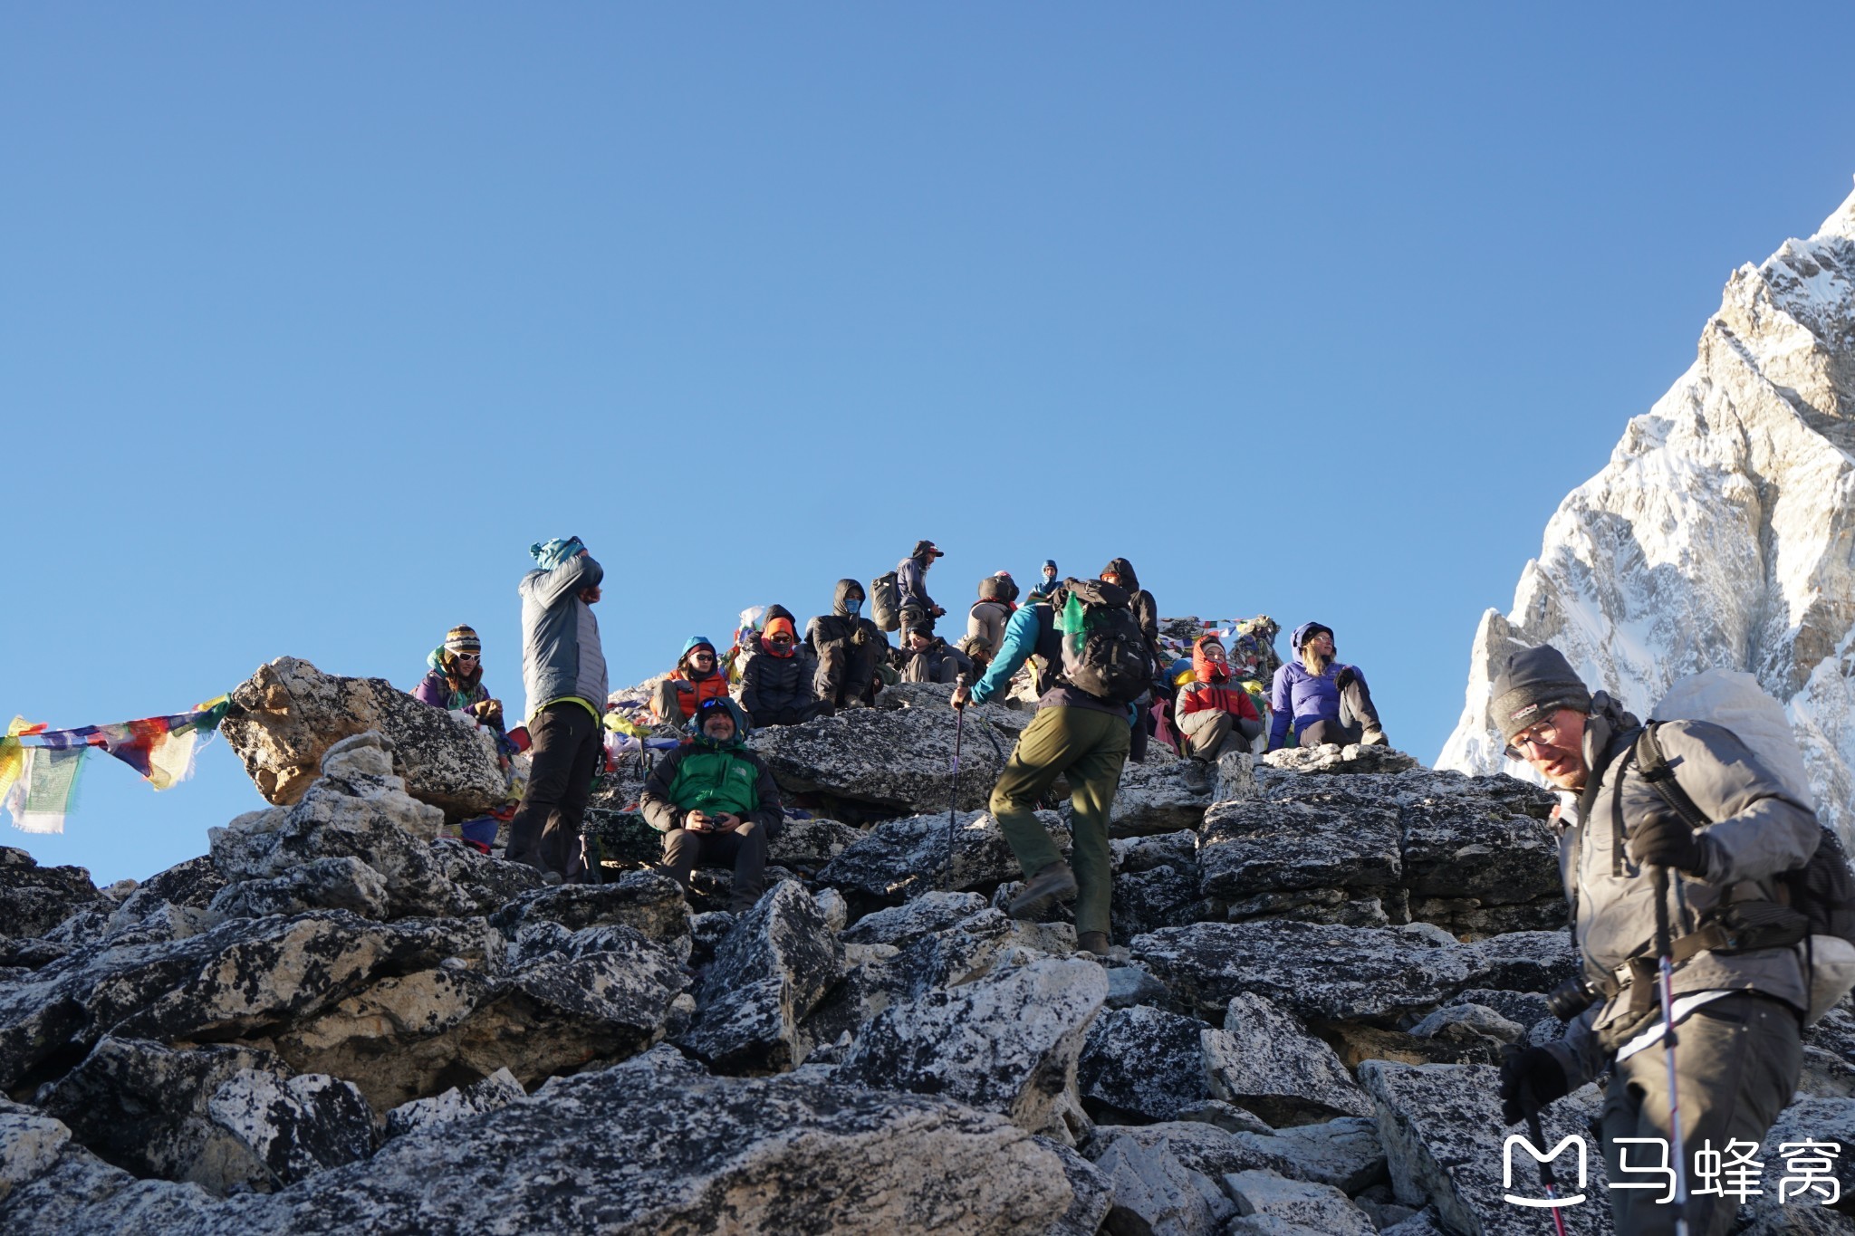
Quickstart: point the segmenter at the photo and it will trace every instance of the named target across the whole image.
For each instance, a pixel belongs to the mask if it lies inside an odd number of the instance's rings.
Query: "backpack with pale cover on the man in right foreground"
[[[1785,708],[1751,675],[1731,669],[1692,675],[1670,687],[1657,712],[1731,730],[1794,799],[1814,810],[1803,756]],[[1712,821],[1681,788],[1675,767],[1664,758],[1655,734],[1660,726],[1660,721],[1649,721],[1636,736],[1636,767],[1681,819],[1701,828]],[[1777,940],[1790,936],[1803,945],[1810,982],[1810,1008],[1803,1021],[1812,1025],[1855,990],[1855,873],[1849,871],[1842,841],[1823,828],[1816,852],[1801,867],[1779,871],[1772,884],[1775,902],[1740,902],[1746,921],[1727,927],[1772,930]]]

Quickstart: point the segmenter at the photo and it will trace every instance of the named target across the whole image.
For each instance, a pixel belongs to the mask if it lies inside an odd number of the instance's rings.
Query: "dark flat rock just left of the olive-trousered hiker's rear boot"
[[[857,710],[864,712],[870,710]],[[1039,812],[1037,819],[1057,849],[1067,851],[1068,828],[1061,819],[1054,812]],[[1005,834],[989,812],[957,815],[952,832],[952,873],[946,860],[948,819],[940,812],[883,821],[825,864],[818,882],[840,889],[853,906],[898,906],[931,889],[989,891],[1002,880],[1022,877]]]

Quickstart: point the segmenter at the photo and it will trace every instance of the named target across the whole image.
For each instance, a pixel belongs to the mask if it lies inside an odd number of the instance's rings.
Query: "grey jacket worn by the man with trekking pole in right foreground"
[[[1660,795],[1625,760],[1636,717],[1599,695],[1586,721],[1584,758],[1599,769],[1575,802],[1560,813],[1560,869],[1577,912],[1579,956],[1592,986],[1612,990],[1616,971],[1655,941],[1655,882],[1629,858],[1634,828],[1664,813]],[[1699,877],[1670,873],[1686,893],[1690,921],[1682,923],[1670,893],[1670,930],[1694,930],[1694,921],[1723,901],[1770,901],[1772,877],[1801,867],[1822,839],[1816,813],[1796,802],[1783,782],[1731,732],[1705,721],[1670,721],[1657,730],[1681,788],[1714,823],[1701,830],[1707,869]],[[1625,767],[1627,765],[1627,767]],[[1567,795],[1569,797],[1569,795]],[[1621,836],[1616,825],[1621,819]],[[1675,995],[1742,990],[1809,1008],[1809,978],[1801,949],[1697,952],[1675,967]],[[1629,990],[1599,1001],[1553,1043],[1573,1086],[1597,1077],[1608,1064],[1599,1032],[1629,1010]]]

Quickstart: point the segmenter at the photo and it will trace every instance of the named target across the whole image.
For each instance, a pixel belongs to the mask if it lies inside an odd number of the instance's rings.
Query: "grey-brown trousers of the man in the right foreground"
[[[1725,1151],[1738,1138],[1753,1145],[1764,1143],[1772,1121],[1790,1103],[1803,1069],[1803,1047],[1797,1041],[1797,1014],[1788,1004],[1751,991],[1723,995],[1695,1008],[1675,1027],[1675,1069],[1681,1086],[1681,1138],[1688,1160],[1688,1232],[1692,1236],[1725,1236],[1738,1214],[1738,1199],[1695,1195],[1694,1153],[1705,1141],[1714,1151]],[[1658,1145],[1618,1145],[1618,1138],[1662,1138],[1668,1129],[1668,1058],[1662,1045],[1638,1051],[1616,1066],[1610,1078],[1610,1097],[1603,1110],[1605,1169],[1612,1184],[1610,1214],[1618,1236],[1657,1236],[1675,1230],[1675,1206],[1657,1204],[1668,1197],[1668,1188],[1616,1188],[1618,1180],[1666,1180],[1666,1175],[1623,1171],[1621,1153],[1629,1166],[1658,1166]],[[1673,1151],[1670,1151],[1671,1154]],[[1759,1151],[1751,1151],[1762,1158]],[[1718,1160],[1716,1160],[1718,1162]],[[1766,1169],[1777,1164],[1766,1164]],[[1766,1184],[1766,1188],[1773,1188]],[[1814,1201],[1814,1199],[1810,1199]]]

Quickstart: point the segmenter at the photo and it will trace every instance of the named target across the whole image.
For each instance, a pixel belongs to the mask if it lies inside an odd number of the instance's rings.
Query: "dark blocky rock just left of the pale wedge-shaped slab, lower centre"
[[[1076,1062],[1076,1091],[1089,1116],[1122,1125],[1178,1119],[1180,1110],[1211,1099],[1204,1023],[1158,1008],[1104,1010]]]

